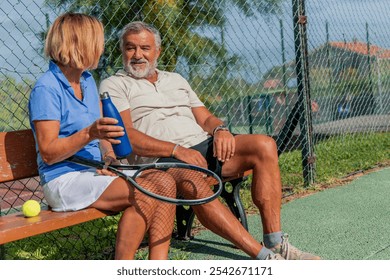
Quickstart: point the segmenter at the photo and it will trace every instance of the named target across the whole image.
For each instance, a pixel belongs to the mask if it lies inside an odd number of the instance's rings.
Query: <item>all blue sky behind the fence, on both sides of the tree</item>
[[[47,68],[36,51],[42,43],[37,32],[46,29],[44,0],[0,0],[0,74],[22,75],[34,79]],[[11,4],[12,3],[12,4]],[[366,23],[373,44],[390,48],[390,1],[388,0],[306,0],[309,50],[326,42],[325,22],[329,23],[331,41],[366,41]],[[282,64],[281,27],[283,23],[286,61],[294,59],[291,1],[282,14],[271,17],[237,17],[229,6],[230,16],[225,40],[231,54],[240,55],[248,66],[248,79],[255,82],[275,65]],[[54,16],[51,15],[50,20]],[[217,38],[220,34],[215,34]],[[27,75],[32,73],[33,75]],[[252,77],[251,77],[252,76]]]

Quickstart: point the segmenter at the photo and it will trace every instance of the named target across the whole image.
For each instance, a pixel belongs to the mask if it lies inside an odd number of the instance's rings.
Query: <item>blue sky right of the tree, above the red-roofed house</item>
[[[390,48],[390,1],[306,0],[305,3],[309,52],[326,43],[326,22],[330,41],[357,39],[366,42],[368,23],[370,42]],[[275,66],[275,61],[282,64],[280,19],[283,22],[286,61],[291,61],[294,59],[291,1],[285,2],[280,16],[231,20],[227,28],[227,44],[232,52],[241,52],[249,63],[256,65],[254,71],[264,73]]]

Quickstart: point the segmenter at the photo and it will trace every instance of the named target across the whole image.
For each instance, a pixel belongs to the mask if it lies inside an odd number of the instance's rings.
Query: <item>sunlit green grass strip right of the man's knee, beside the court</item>
[[[315,145],[315,184],[333,184],[351,173],[388,165],[390,133],[347,134],[329,138]],[[303,187],[301,152],[280,156],[283,186]],[[313,187],[312,186],[312,187]]]

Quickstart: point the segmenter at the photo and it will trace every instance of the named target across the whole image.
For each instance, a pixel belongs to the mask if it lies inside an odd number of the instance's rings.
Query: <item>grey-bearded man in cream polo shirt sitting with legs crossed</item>
[[[282,191],[274,140],[233,135],[182,76],[158,70],[161,37],[153,26],[126,25],[120,46],[124,70],[103,80],[100,92],[109,92],[121,113],[134,150],[129,163],[175,159],[223,177],[252,169],[252,199],[260,211],[264,246],[218,200],[193,207],[199,221],[256,259],[320,259],[290,245],[281,230]]]

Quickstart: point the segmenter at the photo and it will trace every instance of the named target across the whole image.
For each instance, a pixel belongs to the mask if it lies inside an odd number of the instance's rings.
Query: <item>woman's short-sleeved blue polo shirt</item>
[[[100,118],[99,95],[94,78],[89,72],[84,72],[81,78],[83,100],[74,95],[73,88],[61,72],[61,69],[50,62],[49,70],[39,78],[31,91],[28,109],[30,126],[36,140],[36,132],[33,121],[56,120],[60,122],[59,138],[68,137],[77,131],[91,125]],[[37,141],[35,141],[37,142]],[[46,184],[50,180],[72,171],[84,170],[87,167],[70,163],[59,162],[48,165],[43,162],[37,150],[37,163],[41,183]],[[76,155],[88,159],[101,159],[99,140],[93,140]]]

